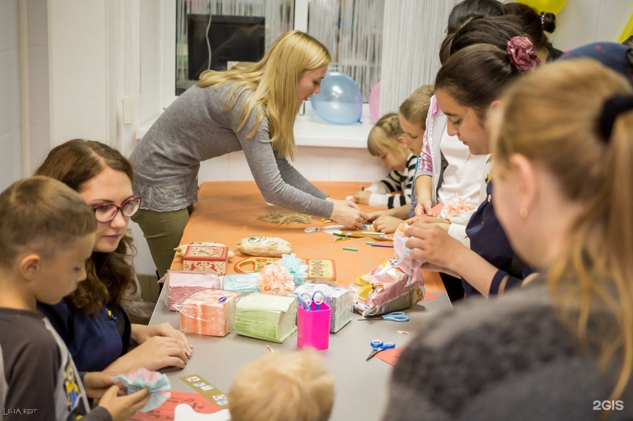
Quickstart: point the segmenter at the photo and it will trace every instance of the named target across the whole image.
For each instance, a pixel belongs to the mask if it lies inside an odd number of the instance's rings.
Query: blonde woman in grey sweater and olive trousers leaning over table
[[[173,260],[197,201],[201,161],[243,150],[266,202],[362,228],[367,215],[351,200],[334,200],[292,168],[294,121],[318,93],[330,54],[299,31],[282,34],[258,63],[204,71],[168,107],[130,156],[134,192],[143,197],[141,226],[158,272]]]

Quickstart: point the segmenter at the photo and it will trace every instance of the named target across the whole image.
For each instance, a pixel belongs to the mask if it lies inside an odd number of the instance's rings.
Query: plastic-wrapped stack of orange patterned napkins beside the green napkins
[[[225,336],[235,326],[235,299],[240,293],[201,290],[183,298],[175,307],[180,312],[180,329],[201,335]]]

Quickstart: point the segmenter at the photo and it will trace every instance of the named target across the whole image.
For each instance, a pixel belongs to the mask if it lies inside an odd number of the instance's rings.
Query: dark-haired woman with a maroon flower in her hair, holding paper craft
[[[533,70],[537,62],[526,37],[513,37],[505,51],[475,44],[453,54],[437,73],[435,84],[437,104],[448,118],[448,134],[456,135],[471,154],[489,155],[489,132],[484,125],[488,111],[499,106],[505,87]],[[450,220],[423,217],[406,230],[411,237],[406,246],[415,249],[411,257],[423,260],[423,267],[429,270],[461,278],[467,296],[503,293],[521,284],[530,273],[510,247],[494,215],[489,165],[481,180],[486,199],[467,224],[470,248],[449,235],[446,227],[453,225]]]

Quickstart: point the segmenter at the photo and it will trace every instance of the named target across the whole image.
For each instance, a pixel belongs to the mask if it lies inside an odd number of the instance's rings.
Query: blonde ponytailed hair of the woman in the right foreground
[[[619,94],[633,95],[629,82],[591,59],[542,66],[506,92],[494,143],[496,165],[507,168],[512,154],[522,154],[583,204],[547,279],[561,319],[580,343],[598,346],[601,367],[621,356],[611,399],[633,372],[633,111],[617,117],[609,139],[598,130],[605,101]],[[588,334],[592,315],[604,309],[609,329]]]

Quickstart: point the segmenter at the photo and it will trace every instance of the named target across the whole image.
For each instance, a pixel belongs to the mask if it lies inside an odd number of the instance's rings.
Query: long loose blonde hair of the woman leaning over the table
[[[254,95],[242,106],[237,130],[242,130],[254,109],[255,124],[248,137],[255,135],[261,120],[267,117],[273,149],[280,156],[292,158],[294,119],[299,111],[299,79],[306,71],[326,66],[330,61],[330,53],[323,44],[304,32],[292,30],[280,35],[257,63],[224,71],[206,70],[196,85],[217,88],[234,82],[227,91],[224,111],[232,109],[244,91],[254,91]]]

